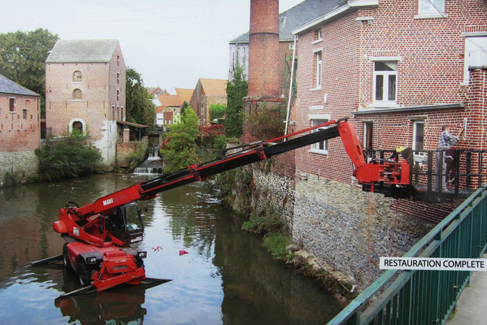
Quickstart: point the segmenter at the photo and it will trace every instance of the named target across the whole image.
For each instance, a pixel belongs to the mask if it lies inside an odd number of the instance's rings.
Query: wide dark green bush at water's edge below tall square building
[[[39,160],[40,180],[77,177],[101,171],[102,154],[88,145],[88,137],[77,129],[56,139],[48,136],[45,144],[35,150]]]

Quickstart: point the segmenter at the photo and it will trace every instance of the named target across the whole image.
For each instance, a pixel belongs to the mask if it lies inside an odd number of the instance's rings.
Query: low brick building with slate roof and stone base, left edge
[[[0,187],[37,175],[40,95],[0,74]]]

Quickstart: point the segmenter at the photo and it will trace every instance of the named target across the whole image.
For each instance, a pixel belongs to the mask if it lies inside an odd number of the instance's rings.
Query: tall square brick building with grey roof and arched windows
[[[125,68],[118,40],[58,40],[46,60],[47,129],[89,132],[108,166],[125,120]]]

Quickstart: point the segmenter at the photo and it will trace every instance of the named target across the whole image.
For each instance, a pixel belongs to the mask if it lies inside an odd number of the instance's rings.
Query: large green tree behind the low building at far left
[[[58,39],[47,29],[0,34],[0,74],[45,97],[45,62]]]

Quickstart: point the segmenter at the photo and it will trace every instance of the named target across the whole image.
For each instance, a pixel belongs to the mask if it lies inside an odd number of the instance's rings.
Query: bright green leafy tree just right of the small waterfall
[[[198,116],[188,106],[179,120],[170,128],[166,139],[161,143],[163,159],[167,163],[165,172],[170,173],[181,168],[195,164],[199,157],[198,145]]]

